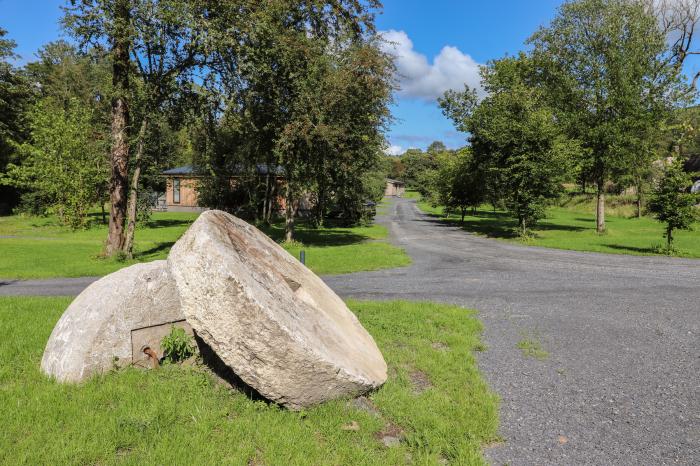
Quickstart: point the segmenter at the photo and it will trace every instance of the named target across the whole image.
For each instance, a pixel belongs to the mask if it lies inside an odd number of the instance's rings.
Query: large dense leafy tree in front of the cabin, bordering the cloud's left
[[[349,206],[360,202],[361,180],[384,142],[391,61],[375,35],[375,1],[277,0],[247,6],[218,5],[214,29],[226,33],[216,35],[215,77],[207,84],[219,106],[208,127],[219,143],[210,146],[205,165],[219,181],[205,183],[202,191],[208,193],[202,198],[226,205],[234,199],[226,186],[234,169],[250,171],[258,163],[279,167],[285,237],[291,240],[303,197],[314,198],[317,223],[338,206],[356,211]],[[224,147],[228,153],[221,153]],[[272,181],[265,180],[262,202],[260,190],[249,190],[249,202],[256,212],[262,204],[264,220],[278,194]]]

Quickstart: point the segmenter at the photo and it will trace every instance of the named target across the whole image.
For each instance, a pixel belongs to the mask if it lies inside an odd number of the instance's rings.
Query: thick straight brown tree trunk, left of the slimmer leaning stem
[[[129,176],[129,1],[118,0],[115,6],[115,28],[112,38],[112,148],[109,185],[109,232],[105,254],[113,256],[124,249],[124,219]]]

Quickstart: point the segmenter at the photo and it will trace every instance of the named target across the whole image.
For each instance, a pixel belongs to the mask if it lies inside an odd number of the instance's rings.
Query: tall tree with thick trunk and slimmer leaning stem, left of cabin
[[[149,117],[183,89],[178,85],[186,89],[188,73],[200,63],[204,12],[197,2],[181,0],[70,0],[65,10],[64,24],[81,43],[110,48],[112,174],[105,252],[130,256]],[[134,116],[139,130],[129,180]]]

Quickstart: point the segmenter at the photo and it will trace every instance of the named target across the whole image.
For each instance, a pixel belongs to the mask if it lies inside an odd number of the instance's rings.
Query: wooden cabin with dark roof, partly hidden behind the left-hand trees
[[[282,169],[274,167],[271,170],[270,167],[263,163],[257,164],[255,169],[258,176],[266,177],[271,175],[274,177],[278,187],[276,190],[278,193],[277,205],[280,208],[284,208],[285,202],[281,195],[283,190],[279,189],[284,184]],[[162,172],[162,175],[166,179],[164,210],[168,212],[202,212],[206,210],[206,207],[200,206],[197,201],[197,183],[206,176],[202,170],[192,165],[185,165],[165,170]],[[237,175],[231,177],[232,186],[235,186],[238,177]]]

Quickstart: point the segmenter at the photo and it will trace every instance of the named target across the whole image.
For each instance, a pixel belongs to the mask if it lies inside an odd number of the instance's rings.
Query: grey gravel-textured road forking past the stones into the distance
[[[700,261],[501,243],[405,199],[380,221],[413,265],[325,279],[345,297],[480,310],[479,364],[502,398],[505,439],[491,462],[700,464]],[[0,294],[75,294],[91,279],[68,280]],[[526,337],[549,357],[524,357]]]

